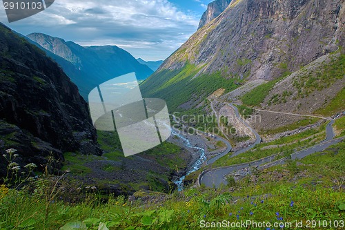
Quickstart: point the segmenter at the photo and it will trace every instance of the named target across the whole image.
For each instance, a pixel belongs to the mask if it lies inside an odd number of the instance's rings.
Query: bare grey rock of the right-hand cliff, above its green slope
[[[233,1],[160,70],[176,70],[188,61],[204,65],[200,73],[274,79],[344,46],[344,38],[342,0]]]

